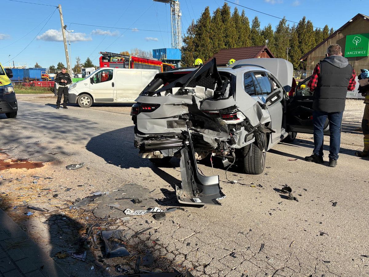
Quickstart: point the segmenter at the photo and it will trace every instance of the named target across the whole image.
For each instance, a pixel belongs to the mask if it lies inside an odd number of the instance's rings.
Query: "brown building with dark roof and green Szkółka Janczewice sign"
[[[315,65],[324,59],[331,44],[342,47],[342,56],[346,57],[355,72],[369,69],[369,17],[357,14],[341,28],[301,57],[306,63],[306,70],[313,71]]]

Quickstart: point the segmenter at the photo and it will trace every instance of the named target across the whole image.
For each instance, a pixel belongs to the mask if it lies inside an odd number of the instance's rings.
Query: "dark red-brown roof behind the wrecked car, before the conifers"
[[[265,47],[265,45],[261,45],[261,46],[221,49],[209,60],[215,57],[217,59],[217,65],[226,65],[230,59],[235,59],[236,61],[238,61],[240,59],[258,58],[258,56],[263,51],[266,51],[271,58],[275,58],[272,52],[270,52],[268,47]]]

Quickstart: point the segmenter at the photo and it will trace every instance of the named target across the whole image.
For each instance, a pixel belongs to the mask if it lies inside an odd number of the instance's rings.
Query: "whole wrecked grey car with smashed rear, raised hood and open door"
[[[260,58],[158,73],[132,106],[135,147],[155,163],[180,158],[180,203],[220,205],[219,177],[201,174],[197,161],[219,157],[261,174],[266,151],[312,133],[312,98],[287,96],[292,74],[290,62]]]

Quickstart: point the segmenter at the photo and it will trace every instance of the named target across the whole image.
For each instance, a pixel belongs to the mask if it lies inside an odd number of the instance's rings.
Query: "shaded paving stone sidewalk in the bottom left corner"
[[[68,277],[50,256],[0,209],[1,277]]]

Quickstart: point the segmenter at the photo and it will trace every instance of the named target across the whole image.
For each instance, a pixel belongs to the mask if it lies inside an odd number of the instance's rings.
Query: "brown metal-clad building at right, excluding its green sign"
[[[351,43],[352,37],[350,35],[356,34],[369,35],[369,17],[363,14],[357,14],[345,25],[331,34],[327,39],[303,55],[303,57],[301,57],[301,61],[306,61],[306,70],[314,70],[315,65],[324,59],[325,54],[327,53],[327,48],[331,44],[339,44],[342,47],[342,56],[347,56],[346,50],[349,51],[349,49],[345,49],[345,46],[348,43]],[[349,36],[347,38],[349,38],[350,41],[346,42],[346,36]],[[358,45],[358,43],[356,43],[356,45]],[[368,45],[366,45],[366,47],[368,47]],[[346,58],[353,66],[356,73],[360,72],[360,69],[369,69],[368,49],[366,49],[366,56]]]

